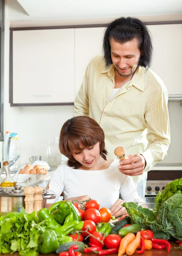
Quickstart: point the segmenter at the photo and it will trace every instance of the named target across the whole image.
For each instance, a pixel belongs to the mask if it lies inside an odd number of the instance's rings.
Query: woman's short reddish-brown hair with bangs
[[[106,159],[107,151],[105,150],[104,131],[100,125],[88,116],[75,116],[68,119],[60,132],[59,148],[61,154],[68,157],[68,166],[78,169],[81,166],[71,154],[71,150],[80,150],[80,144],[84,147],[100,143],[100,155],[104,160]]]

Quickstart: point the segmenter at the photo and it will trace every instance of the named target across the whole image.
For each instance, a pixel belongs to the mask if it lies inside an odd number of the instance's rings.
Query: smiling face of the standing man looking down
[[[141,52],[137,39],[120,44],[111,38],[111,59],[120,76],[130,76],[137,69]]]

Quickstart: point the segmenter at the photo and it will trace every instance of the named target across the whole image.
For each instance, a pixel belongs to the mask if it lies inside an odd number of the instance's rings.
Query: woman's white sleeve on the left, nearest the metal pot
[[[54,204],[59,199],[64,189],[64,179],[64,165],[60,165],[51,176],[48,188],[48,194],[54,194],[56,198],[47,199],[47,204]]]

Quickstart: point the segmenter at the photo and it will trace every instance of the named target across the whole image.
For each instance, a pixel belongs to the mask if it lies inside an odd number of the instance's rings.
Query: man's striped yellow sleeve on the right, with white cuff
[[[145,120],[148,129],[148,146],[141,154],[147,163],[144,172],[148,172],[167,156],[171,142],[167,90],[163,90],[147,109]]]

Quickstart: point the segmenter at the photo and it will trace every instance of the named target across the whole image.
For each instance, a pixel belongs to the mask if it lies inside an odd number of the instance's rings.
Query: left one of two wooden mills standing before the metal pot
[[[24,189],[25,194],[25,211],[26,213],[32,213],[34,211],[34,188],[28,186]]]

